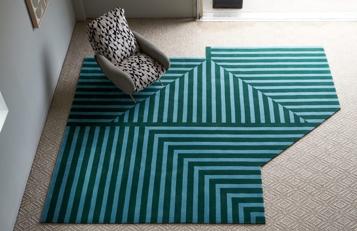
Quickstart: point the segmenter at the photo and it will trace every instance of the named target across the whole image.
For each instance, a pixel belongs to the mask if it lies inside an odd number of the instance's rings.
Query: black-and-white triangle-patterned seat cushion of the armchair
[[[166,71],[159,62],[140,51],[116,66],[131,76],[135,85],[134,92],[139,92],[154,83]]]

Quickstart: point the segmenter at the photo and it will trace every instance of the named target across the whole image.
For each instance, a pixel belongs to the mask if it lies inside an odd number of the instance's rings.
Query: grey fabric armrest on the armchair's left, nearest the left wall
[[[111,80],[114,85],[116,85],[120,90],[126,94],[131,94],[134,92],[135,86],[134,81],[128,73],[123,72],[119,68],[115,67],[104,55],[96,53],[94,55],[100,69]]]

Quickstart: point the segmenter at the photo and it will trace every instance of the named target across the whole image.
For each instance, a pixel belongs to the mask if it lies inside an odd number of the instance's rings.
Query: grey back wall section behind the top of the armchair
[[[121,6],[127,18],[192,18],[196,0],[74,0],[82,1],[87,18]]]

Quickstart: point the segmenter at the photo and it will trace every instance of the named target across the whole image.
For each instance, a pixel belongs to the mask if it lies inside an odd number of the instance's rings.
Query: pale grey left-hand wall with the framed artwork
[[[33,29],[25,0],[1,1],[0,230],[12,230],[75,25],[71,0],[52,0]]]

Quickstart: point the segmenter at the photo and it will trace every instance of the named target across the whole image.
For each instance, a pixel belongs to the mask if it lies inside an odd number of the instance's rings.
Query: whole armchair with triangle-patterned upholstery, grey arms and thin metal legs
[[[87,34],[103,73],[134,102],[132,93],[160,81],[170,67],[164,52],[130,30],[121,7],[89,23]]]

